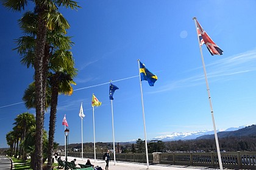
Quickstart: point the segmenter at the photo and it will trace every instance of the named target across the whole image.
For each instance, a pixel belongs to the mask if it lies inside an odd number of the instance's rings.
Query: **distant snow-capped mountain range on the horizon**
[[[239,126],[239,127],[230,127],[226,130],[217,130],[217,132],[236,131],[238,129],[242,129],[247,126],[249,125]],[[212,134],[214,134],[214,131],[212,130],[203,130],[203,131],[195,131],[195,132],[173,132],[169,135],[154,137],[151,140],[162,140],[162,141],[191,140],[191,139],[196,139],[197,137],[201,137],[202,135],[212,135]]]

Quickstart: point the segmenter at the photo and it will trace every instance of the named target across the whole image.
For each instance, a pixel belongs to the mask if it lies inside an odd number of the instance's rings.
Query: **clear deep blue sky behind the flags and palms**
[[[256,12],[255,1],[78,1],[82,9],[60,9],[73,36],[76,68],[74,94],[59,96],[55,141],[64,143],[63,116],[69,143],[93,142],[94,93],[102,106],[94,112],[96,141],[112,141],[108,82],[116,81],[113,100],[115,140],[144,139],[138,63],[158,76],[154,87],[143,81],[148,139],[171,132],[213,129],[204,70],[193,17],[224,51],[211,56],[202,47],[217,129],[255,124]],[[22,103],[34,69],[20,64],[14,39],[22,36],[21,13],[0,7],[1,62],[0,148],[14,118],[27,110]],[[119,81],[118,81],[119,80]],[[102,84],[102,85],[99,85]],[[99,86],[96,86],[99,85]],[[45,129],[49,112],[45,114]]]

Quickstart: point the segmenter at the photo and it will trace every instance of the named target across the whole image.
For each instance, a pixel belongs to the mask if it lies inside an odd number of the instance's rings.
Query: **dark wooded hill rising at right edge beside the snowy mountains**
[[[224,131],[224,132],[218,132],[217,134],[218,134],[218,138],[256,136],[256,124],[244,127],[242,129],[238,129],[236,131]],[[201,137],[197,137],[196,139],[211,139],[211,138],[215,138],[215,136],[202,135]]]

